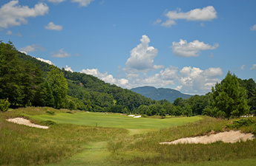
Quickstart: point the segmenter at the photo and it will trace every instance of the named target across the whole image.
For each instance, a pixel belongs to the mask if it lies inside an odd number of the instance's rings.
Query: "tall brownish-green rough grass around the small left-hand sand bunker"
[[[22,113],[24,111],[24,113]],[[56,111],[56,110],[54,110]],[[59,162],[84,150],[88,142],[112,139],[127,134],[122,128],[94,128],[56,124],[48,130],[7,122],[7,117],[24,117],[30,111],[0,113],[0,165],[42,165]],[[45,114],[39,109],[33,114]]]

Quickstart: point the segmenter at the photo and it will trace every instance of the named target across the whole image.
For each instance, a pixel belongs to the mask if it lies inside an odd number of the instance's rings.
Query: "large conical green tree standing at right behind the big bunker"
[[[215,89],[212,87],[211,91],[212,100],[209,104],[217,116],[229,118],[248,113],[246,89],[240,86],[237,76],[231,72],[228,72],[221,83],[216,83]]]

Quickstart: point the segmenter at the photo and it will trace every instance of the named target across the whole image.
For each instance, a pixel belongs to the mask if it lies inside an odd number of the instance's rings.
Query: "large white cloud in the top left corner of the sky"
[[[0,8],[0,27],[7,28],[27,24],[27,18],[45,15],[49,11],[47,4],[39,2],[33,8],[20,6],[19,1],[10,1]]]

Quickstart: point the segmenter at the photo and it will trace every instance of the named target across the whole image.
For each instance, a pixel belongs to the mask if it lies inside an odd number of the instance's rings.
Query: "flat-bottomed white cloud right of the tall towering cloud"
[[[180,39],[180,42],[173,42],[171,48],[174,55],[180,57],[197,57],[200,55],[200,51],[216,49],[218,46],[219,44],[211,46],[197,40],[188,43],[186,40],[183,41],[183,39]]]

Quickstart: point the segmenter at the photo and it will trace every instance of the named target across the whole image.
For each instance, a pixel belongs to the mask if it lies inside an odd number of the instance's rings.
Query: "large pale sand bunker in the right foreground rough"
[[[229,131],[218,134],[211,134],[209,136],[196,136],[177,139],[172,142],[160,142],[160,144],[176,145],[176,144],[210,144],[217,141],[222,141],[224,143],[234,143],[252,140],[255,136],[253,134],[243,134],[240,131]]]

